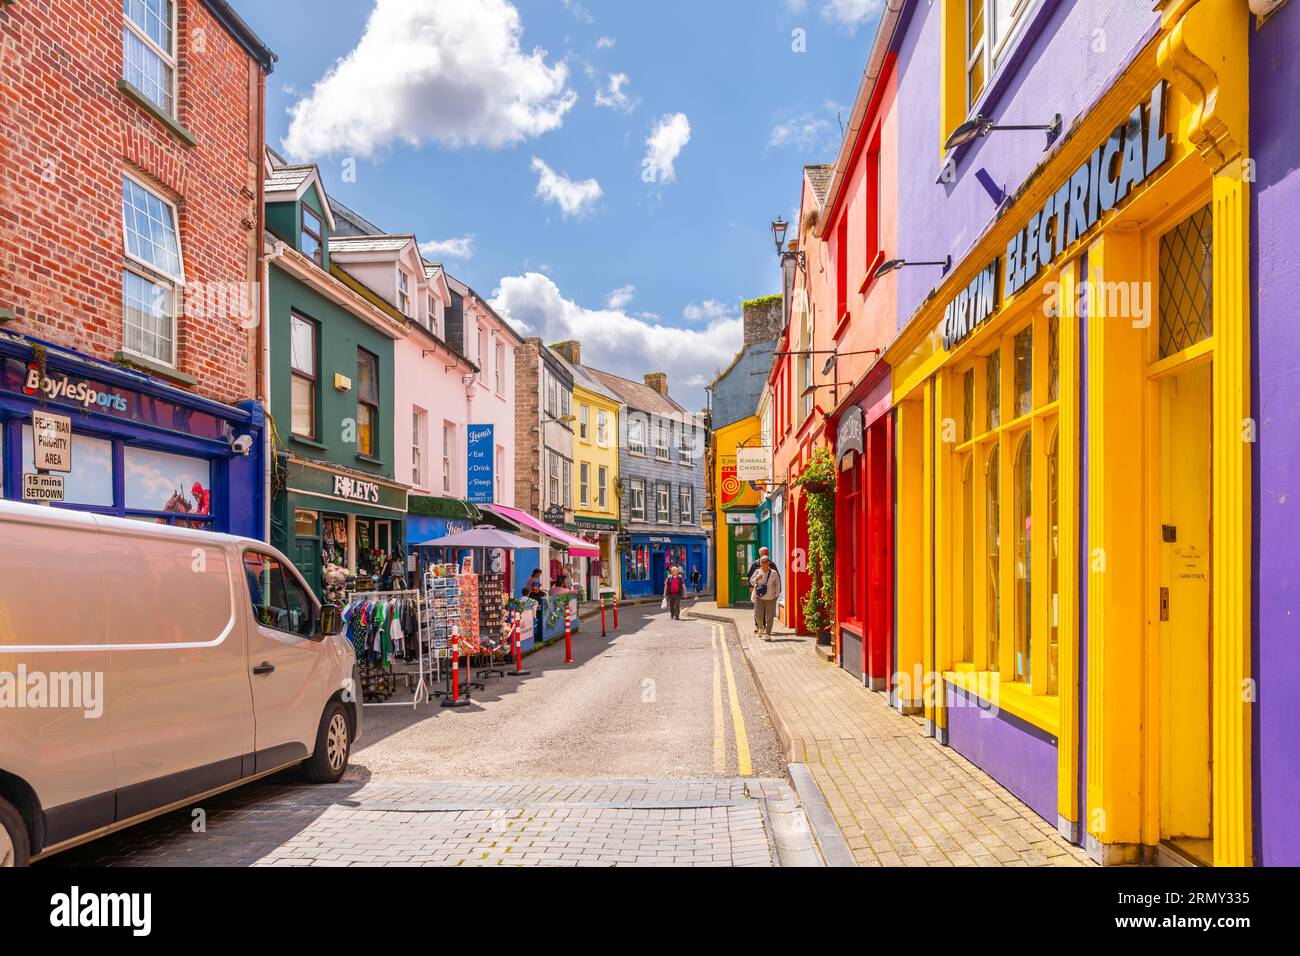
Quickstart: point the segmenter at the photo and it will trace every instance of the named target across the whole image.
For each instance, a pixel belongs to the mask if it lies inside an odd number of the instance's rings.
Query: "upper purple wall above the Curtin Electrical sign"
[[[1014,194],[1043,161],[1046,140],[1035,131],[993,133],[958,152],[956,182],[936,182],[942,146],[936,95],[940,8],[914,0],[900,22],[901,36],[894,38],[898,159],[906,163],[898,176],[898,208],[907,215],[898,217],[898,248],[885,252],[906,259],[952,255],[958,263],[998,211],[976,173],[984,170],[997,187]],[[991,77],[978,112],[1006,124],[1050,122],[1061,113],[1069,131],[1153,35],[1158,20],[1150,0],[1040,0]],[[894,274],[901,329],[942,276],[930,268]]]

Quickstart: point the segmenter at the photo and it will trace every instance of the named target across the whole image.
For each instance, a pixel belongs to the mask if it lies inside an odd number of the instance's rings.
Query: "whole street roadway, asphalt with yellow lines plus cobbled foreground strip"
[[[255,784],[40,865],[820,865],[736,637],[621,623],[463,710],[368,706],[339,784]]]

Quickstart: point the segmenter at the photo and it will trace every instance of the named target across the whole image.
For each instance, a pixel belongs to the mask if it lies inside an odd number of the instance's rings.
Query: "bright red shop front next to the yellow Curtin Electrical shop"
[[[836,659],[872,691],[898,698],[894,663],[893,418],[889,367],[876,363],[831,416],[836,483]]]

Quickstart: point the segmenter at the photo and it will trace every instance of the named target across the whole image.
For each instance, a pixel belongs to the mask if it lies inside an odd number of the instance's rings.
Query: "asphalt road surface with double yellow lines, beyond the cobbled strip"
[[[543,648],[526,658],[530,676],[488,680],[471,708],[367,708],[344,780],[736,777],[733,688],[744,775],[784,777],[740,646],[727,641],[723,657],[727,630],[690,620],[686,607],[682,620],[655,605],[624,610],[607,639],[598,618],[586,620],[575,663],[564,663],[563,641]]]

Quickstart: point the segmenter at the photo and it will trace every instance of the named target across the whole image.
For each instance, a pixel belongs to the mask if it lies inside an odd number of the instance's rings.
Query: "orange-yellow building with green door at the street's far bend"
[[[762,501],[762,492],[751,483],[740,480],[736,458],[737,449],[760,445],[762,424],[754,415],[714,432],[714,584],[719,607],[749,602],[745,572],[758,559],[760,541],[755,509]]]

